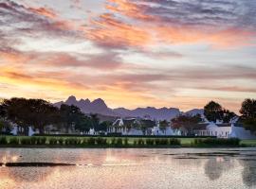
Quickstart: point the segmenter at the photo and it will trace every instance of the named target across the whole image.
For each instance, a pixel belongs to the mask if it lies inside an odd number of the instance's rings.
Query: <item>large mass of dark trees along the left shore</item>
[[[108,122],[100,123],[97,114],[84,114],[78,107],[61,105],[53,106],[43,99],[11,98],[0,103],[0,129],[11,122],[16,124],[21,134],[27,135],[28,128],[38,129],[44,134],[47,126],[57,129],[88,131],[89,129],[106,130]]]

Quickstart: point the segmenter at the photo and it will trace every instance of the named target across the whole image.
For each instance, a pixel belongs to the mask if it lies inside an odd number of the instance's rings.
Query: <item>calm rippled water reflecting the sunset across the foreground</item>
[[[1,189],[256,188],[256,148],[6,148],[0,163]]]

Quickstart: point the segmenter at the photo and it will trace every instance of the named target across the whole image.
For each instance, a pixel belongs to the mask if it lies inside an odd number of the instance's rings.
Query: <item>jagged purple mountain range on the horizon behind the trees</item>
[[[62,104],[75,105],[81,109],[84,113],[98,113],[101,115],[107,115],[112,117],[147,117],[155,120],[170,120],[179,114],[203,114],[202,109],[192,109],[189,112],[180,112],[176,108],[137,108],[134,110],[128,110],[125,108],[110,109],[101,98],[90,101],[88,98],[77,100],[74,95],[69,96],[65,101],[57,102],[54,105],[61,107]]]

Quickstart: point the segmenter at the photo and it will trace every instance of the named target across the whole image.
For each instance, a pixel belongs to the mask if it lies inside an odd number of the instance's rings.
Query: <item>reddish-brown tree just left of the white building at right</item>
[[[178,117],[175,117],[174,119],[172,119],[172,125],[174,129],[184,128],[189,133],[192,133],[194,126],[201,121],[202,119],[199,114],[195,116],[179,115]]]

